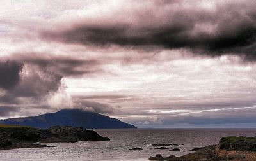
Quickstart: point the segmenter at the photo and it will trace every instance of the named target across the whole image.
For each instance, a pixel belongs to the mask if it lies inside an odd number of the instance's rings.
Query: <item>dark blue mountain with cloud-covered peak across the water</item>
[[[8,118],[0,120],[0,124],[23,125],[47,129],[49,127],[72,126],[83,127],[85,129],[117,129],[117,128],[136,128],[116,118],[83,111],[81,109],[62,109],[56,113],[46,113],[44,115],[24,118]]]

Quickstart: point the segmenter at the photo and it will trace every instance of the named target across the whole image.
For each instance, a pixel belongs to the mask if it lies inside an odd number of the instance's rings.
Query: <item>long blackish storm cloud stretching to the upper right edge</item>
[[[147,10],[145,6],[141,8],[140,14],[131,14],[134,17],[127,15],[127,18],[140,20],[139,22],[109,20],[106,23],[92,24],[84,21],[71,29],[43,32],[42,36],[83,45],[189,48],[195,50],[195,53],[212,56],[235,53],[244,55],[246,59],[256,59],[255,2],[233,1],[223,6],[216,3],[214,11],[199,6],[188,9],[179,6],[180,2],[182,1],[161,1],[155,8]],[[148,14],[150,10],[152,15]]]

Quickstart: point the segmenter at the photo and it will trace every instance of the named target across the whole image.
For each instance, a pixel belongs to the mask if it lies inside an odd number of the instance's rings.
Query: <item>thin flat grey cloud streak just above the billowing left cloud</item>
[[[41,69],[48,69],[54,73],[58,73],[61,76],[83,76],[94,73],[100,73],[101,63],[99,60],[90,59],[76,59],[74,57],[54,57],[45,53],[26,53],[16,54],[12,59],[17,59],[24,64],[32,64],[38,66]]]

